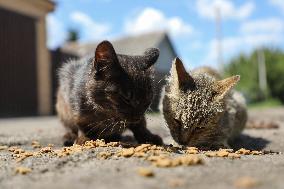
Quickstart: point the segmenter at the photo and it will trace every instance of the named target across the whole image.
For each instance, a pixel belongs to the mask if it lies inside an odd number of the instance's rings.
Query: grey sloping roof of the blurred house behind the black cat
[[[110,40],[114,49],[119,54],[139,55],[143,54],[145,49],[150,47],[159,47],[163,40],[169,40],[166,32],[151,32],[135,36],[127,36],[117,40]],[[78,43],[68,42],[61,47],[65,53],[74,54],[82,57],[94,52],[99,42]],[[171,48],[174,51],[174,48]],[[175,53],[175,52],[174,52]]]

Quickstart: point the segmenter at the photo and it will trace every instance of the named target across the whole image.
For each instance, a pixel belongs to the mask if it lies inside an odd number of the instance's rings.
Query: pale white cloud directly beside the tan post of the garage
[[[50,49],[59,47],[67,38],[67,32],[55,16],[49,14],[47,22],[47,46]]]

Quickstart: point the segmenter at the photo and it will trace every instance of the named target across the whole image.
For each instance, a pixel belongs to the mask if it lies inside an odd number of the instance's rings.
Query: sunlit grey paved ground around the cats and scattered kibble
[[[275,121],[278,129],[246,129],[236,147],[284,152],[284,108],[251,111],[250,118]],[[149,126],[163,136],[171,138],[159,115],[148,116]],[[0,145],[19,146],[31,150],[31,141],[42,145],[55,144],[61,148],[62,127],[55,117],[0,120]],[[244,188],[284,188],[284,155],[243,156],[241,159],[206,158],[204,165],[156,168],[152,178],[137,174],[137,168],[149,167],[147,161],[138,158],[96,158],[99,151],[93,149],[71,156],[31,157],[16,163],[7,150],[0,150],[0,188],[237,188],[235,182],[250,178]],[[15,174],[18,166],[29,167],[27,175]],[[241,186],[240,186],[241,187]]]

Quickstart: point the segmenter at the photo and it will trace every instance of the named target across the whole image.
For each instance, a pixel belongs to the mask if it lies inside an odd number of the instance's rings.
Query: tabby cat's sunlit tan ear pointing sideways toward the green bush
[[[220,81],[217,81],[213,85],[213,89],[216,91],[216,96],[215,100],[221,100],[223,99],[229,92],[230,90],[238,83],[240,80],[240,76],[232,76]]]

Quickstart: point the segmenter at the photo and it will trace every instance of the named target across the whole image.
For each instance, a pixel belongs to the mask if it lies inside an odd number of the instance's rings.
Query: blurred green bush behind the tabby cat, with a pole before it
[[[258,81],[257,52],[263,51],[267,70],[267,91],[261,91]],[[241,75],[237,89],[242,91],[249,102],[277,98],[284,103],[284,52],[277,49],[259,49],[249,55],[233,58],[224,68],[224,74]]]

